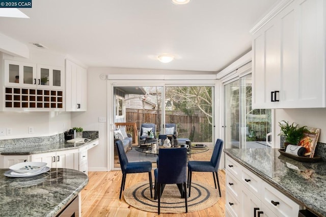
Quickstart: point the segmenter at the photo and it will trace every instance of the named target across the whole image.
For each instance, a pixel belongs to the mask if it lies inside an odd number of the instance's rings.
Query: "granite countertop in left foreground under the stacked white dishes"
[[[52,168],[34,177],[11,178],[0,169],[0,215],[56,216],[87,185],[83,172]]]

